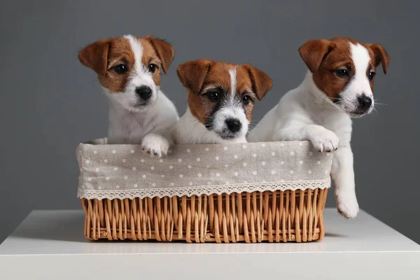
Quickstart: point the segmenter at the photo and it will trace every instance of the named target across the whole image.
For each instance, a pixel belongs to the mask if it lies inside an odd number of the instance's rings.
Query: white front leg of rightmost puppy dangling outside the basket
[[[331,175],[335,183],[337,210],[346,218],[356,218],[359,208],[354,183],[353,153],[349,146],[335,151]]]

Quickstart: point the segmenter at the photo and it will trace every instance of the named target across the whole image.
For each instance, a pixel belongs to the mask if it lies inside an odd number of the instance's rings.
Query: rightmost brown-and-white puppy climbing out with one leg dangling
[[[358,214],[351,152],[351,118],[374,108],[376,68],[386,73],[389,56],[376,43],[351,38],[311,40],[299,48],[309,71],[255,126],[248,141],[308,140],[320,152],[337,150],[332,162],[337,210]]]

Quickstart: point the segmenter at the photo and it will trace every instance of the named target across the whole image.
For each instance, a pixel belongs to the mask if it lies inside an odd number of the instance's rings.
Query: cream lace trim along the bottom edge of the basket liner
[[[142,188],[130,190],[86,190],[78,188],[77,196],[87,200],[103,200],[103,199],[118,199],[123,200],[128,198],[144,197],[182,197],[187,195],[221,195],[223,193],[230,195],[231,193],[252,193],[255,191],[264,192],[274,190],[314,190],[316,188],[330,188],[331,180],[310,180],[310,181],[283,181],[283,182],[269,182],[269,183],[241,183],[235,185],[218,185],[218,186],[195,186],[186,188]]]

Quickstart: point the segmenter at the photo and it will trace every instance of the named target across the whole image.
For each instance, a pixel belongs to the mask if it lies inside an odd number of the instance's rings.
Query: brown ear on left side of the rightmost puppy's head
[[[299,53],[308,69],[314,73],[333,48],[335,48],[335,43],[331,41],[324,39],[309,40],[299,48]]]

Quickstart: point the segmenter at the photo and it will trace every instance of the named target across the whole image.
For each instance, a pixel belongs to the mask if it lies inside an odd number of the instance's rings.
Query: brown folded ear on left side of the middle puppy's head
[[[206,78],[211,64],[213,62],[208,59],[193,60],[179,65],[176,73],[184,87],[194,93],[198,93],[203,86],[204,78]]]

